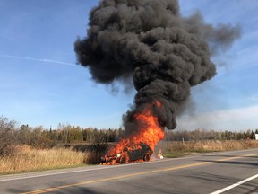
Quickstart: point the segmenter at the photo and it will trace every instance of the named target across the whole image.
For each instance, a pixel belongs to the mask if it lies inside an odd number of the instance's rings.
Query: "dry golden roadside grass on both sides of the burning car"
[[[101,152],[83,150],[74,151],[74,146],[54,147],[51,149],[32,148],[17,145],[12,155],[0,157],[0,174],[35,172],[50,169],[71,168],[86,164],[99,164]],[[85,145],[84,145],[85,146]],[[111,145],[110,145],[111,146]],[[258,148],[258,141],[189,141],[163,142],[165,157],[181,157],[194,153],[207,153],[228,150]],[[78,150],[78,147],[77,149]]]

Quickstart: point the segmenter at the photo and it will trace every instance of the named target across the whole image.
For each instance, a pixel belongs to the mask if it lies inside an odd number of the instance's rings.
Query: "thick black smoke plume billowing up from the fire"
[[[159,124],[173,129],[191,86],[216,75],[211,54],[239,36],[239,27],[213,27],[200,13],[182,17],[176,0],[103,0],[91,10],[87,36],[76,40],[74,49],[98,83],[133,78],[137,94],[125,126],[152,104]]]

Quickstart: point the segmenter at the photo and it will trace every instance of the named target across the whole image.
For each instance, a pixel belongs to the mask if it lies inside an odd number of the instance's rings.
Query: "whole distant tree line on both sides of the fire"
[[[258,129],[245,132],[214,131],[195,129],[165,130],[165,141],[190,140],[243,140],[254,139]],[[0,117],[0,155],[12,152],[12,145],[32,145],[38,147],[54,146],[57,144],[89,143],[96,147],[108,142],[117,142],[124,137],[122,128],[81,128],[70,124],[59,124],[57,128],[18,126],[15,120]]]

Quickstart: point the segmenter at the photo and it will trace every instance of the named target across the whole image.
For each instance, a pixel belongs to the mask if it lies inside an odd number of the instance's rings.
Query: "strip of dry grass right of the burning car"
[[[258,141],[189,141],[185,142],[165,142],[164,155],[166,157],[179,157],[193,153],[219,152],[229,150],[241,150],[257,148]]]

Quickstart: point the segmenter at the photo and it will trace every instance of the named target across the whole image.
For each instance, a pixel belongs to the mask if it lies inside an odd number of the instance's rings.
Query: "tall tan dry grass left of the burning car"
[[[36,149],[17,145],[15,154],[0,157],[0,174],[32,172],[82,165],[84,154],[71,149]]]

